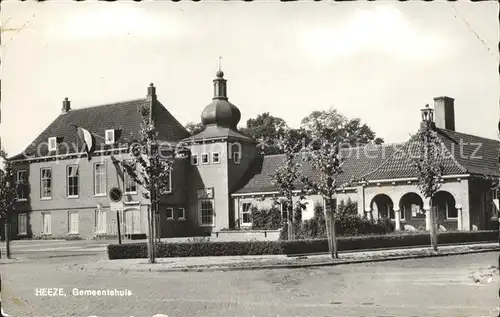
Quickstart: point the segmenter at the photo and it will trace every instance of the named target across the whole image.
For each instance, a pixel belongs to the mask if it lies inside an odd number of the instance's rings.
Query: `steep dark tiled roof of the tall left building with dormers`
[[[106,104],[88,108],[72,109],[60,114],[26,150],[12,157],[14,160],[25,158],[44,157],[55,154],[71,154],[81,152],[83,144],[78,139],[76,129],[72,124],[87,129],[97,135],[96,150],[110,148],[104,141],[105,130],[115,129],[115,142],[127,142],[139,139],[142,117],[139,109],[148,105],[146,98]],[[155,125],[158,138],[162,141],[175,142],[189,135],[189,132],[180,124],[160,102],[154,104]],[[58,138],[58,151],[48,151],[48,139]],[[69,146],[67,146],[69,145]],[[114,147],[117,145],[115,144]],[[38,149],[38,150],[37,150]],[[79,151],[78,151],[79,149]]]

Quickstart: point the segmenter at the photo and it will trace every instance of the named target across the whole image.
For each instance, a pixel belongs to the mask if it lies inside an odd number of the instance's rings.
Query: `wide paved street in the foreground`
[[[67,269],[102,258],[102,243],[24,251],[22,261],[2,264],[3,307],[12,316],[498,316],[496,252],[295,270]],[[47,287],[67,296],[35,295]],[[74,288],[127,289],[131,296],[75,296]]]

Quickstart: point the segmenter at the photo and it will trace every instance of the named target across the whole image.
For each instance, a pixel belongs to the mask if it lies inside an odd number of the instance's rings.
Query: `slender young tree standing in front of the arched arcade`
[[[432,111],[426,105],[426,110]],[[424,121],[417,134],[409,142],[416,142],[417,155],[413,159],[413,166],[418,171],[418,188],[422,195],[430,201],[430,234],[432,248],[437,251],[437,233],[435,212],[432,198],[441,187],[443,176],[442,149],[443,145],[433,128],[433,122]]]

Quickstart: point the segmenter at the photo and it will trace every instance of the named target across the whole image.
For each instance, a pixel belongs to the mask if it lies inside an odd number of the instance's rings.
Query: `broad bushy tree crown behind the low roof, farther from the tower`
[[[334,108],[326,111],[313,111],[302,119],[301,128],[313,140],[313,135],[322,134],[331,142],[342,139],[341,145],[359,146],[384,143],[384,140],[377,138],[375,132],[366,124],[362,124],[359,118],[348,119]]]

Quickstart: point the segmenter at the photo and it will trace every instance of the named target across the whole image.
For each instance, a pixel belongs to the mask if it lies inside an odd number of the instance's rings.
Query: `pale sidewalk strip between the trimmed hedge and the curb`
[[[307,255],[289,257],[287,255],[261,256],[213,256],[158,258],[150,264],[148,259],[101,260],[87,264],[67,265],[66,269],[111,272],[186,272],[186,271],[227,271],[257,270],[277,268],[300,268],[312,266],[334,266],[352,263],[392,261],[435,256],[448,256],[478,252],[500,251],[498,243],[441,246],[437,252],[431,247],[397,250],[366,250],[339,252],[339,259],[329,255]]]

